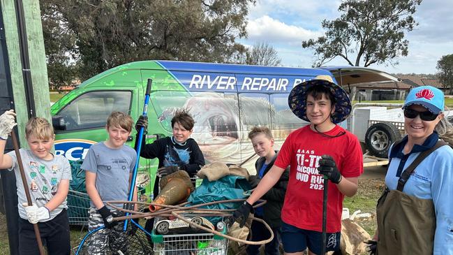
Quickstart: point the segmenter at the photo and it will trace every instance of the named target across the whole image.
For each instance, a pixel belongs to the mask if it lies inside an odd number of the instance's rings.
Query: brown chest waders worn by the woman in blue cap
[[[386,190],[376,212],[378,255],[433,254],[436,213],[431,199]]]

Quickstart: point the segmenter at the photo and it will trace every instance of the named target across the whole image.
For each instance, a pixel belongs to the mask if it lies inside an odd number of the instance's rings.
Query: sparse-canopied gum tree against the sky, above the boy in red
[[[413,14],[422,0],[346,0],[339,7],[342,13],[332,21],[323,20],[325,36],[302,41],[302,48],[311,48],[318,55],[313,66],[321,66],[335,57],[350,66],[398,64],[394,59],[408,55],[409,41],[405,31],[418,24]],[[355,59],[353,59],[355,57]]]

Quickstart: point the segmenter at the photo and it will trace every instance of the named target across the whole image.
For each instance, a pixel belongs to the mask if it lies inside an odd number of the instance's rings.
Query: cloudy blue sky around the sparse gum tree
[[[302,48],[302,41],[324,34],[322,20],[339,17],[338,0],[257,0],[248,15],[248,38],[239,42],[253,45],[267,42],[282,59],[283,66],[311,67],[313,52]],[[445,54],[453,54],[453,1],[424,0],[417,8],[419,26],[406,33],[407,57],[399,65],[372,65],[389,73],[436,73],[436,63]],[[334,59],[327,65],[346,65]]]

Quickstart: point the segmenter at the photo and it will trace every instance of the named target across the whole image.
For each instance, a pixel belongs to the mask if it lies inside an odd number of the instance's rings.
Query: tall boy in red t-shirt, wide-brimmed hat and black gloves
[[[326,251],[336,251],[340,247],[343,198],[355,195],[358,177],[363,173],[359,140],[337,125],[348,117],[350,100],[330,76],[322,75],[294,87],[288,103],[297,117],[310,124],[290,133],[274,166],[244,205],[233,213],[233,219],[243,226],[251,205],[273,187],[290,166],[281,213],[283,249],[285,254],[302,254],[308,247],[310,255],[320,255],[322,175],[326,175],[333,183],[328,186]]]

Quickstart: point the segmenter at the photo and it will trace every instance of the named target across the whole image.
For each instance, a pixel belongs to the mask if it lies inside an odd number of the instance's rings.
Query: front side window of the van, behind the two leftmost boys
[[[66,105],[57,115],[63,116],[66,131],[104,128],[112,111],[130,113],[132,92],[87,92]]]

